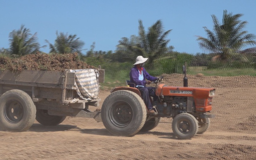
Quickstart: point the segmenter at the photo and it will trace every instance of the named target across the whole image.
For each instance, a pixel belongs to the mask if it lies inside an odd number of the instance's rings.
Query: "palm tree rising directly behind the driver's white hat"
[[[122,60],[131,60],[141,55],[148,57],[147,64],[152,67],[153,63],[160,58],[167,58],[168,51],[173,49],[173,46],[167,47],[168,34],[171,30],[164,31],[161,20],[158,20],[152,26],[148,28],[146,32],[142,21],[139,20],[138,36],[132,35],[130,39],[123,37],[117,45],[117,51],[119,55],[122,55]]]

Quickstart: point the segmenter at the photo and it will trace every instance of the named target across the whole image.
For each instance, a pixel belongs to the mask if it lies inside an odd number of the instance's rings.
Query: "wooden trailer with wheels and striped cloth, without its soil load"
[[[99,82],[104,70],[0,71],[0,129],[28,130],[37,120],[55,126],[67,116],[101,122]]]

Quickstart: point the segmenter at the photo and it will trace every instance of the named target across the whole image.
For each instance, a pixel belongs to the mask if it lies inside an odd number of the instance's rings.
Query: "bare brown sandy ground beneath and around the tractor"
[[[167,85],[183,85],[183,75],[164,77]],[[204,134],[179,140],[173,136],[172,119],[162,118],[151,131],[116,137],[102,122],[67,117],[57,126],[35,121],[26,132],[0,131],[0,159],[256,159],[256,78],[188,77],[191,87],[216,88],[211,112],[216,117]],[[101,91],[99,98],[103,102],[109,94]]]

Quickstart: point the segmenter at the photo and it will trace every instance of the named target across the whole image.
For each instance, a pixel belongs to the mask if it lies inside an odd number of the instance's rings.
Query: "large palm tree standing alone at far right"
[[[241,16],[243,14],[233,15],[224,10],[222,24],[220,24],[217,17],[211,15],[214,23],[213,31],[203,27],[207,38],[197,36],[200,48],[215,53],[216,56],[213,59],[227,61],[239,58],[247,60],[239,51],[247,45],[255,45],[254,39],[256,37],[254,34],[248,34],[247,31],[243,30],[247,21],[240,21]]]

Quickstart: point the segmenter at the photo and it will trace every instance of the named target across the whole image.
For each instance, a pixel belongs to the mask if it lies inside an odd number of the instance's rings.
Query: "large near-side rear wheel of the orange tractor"
[[[136,134],[143,127],[146,114],[142,98],[129,90],[111,93],[102,104],[102,122],[115,136]]]

